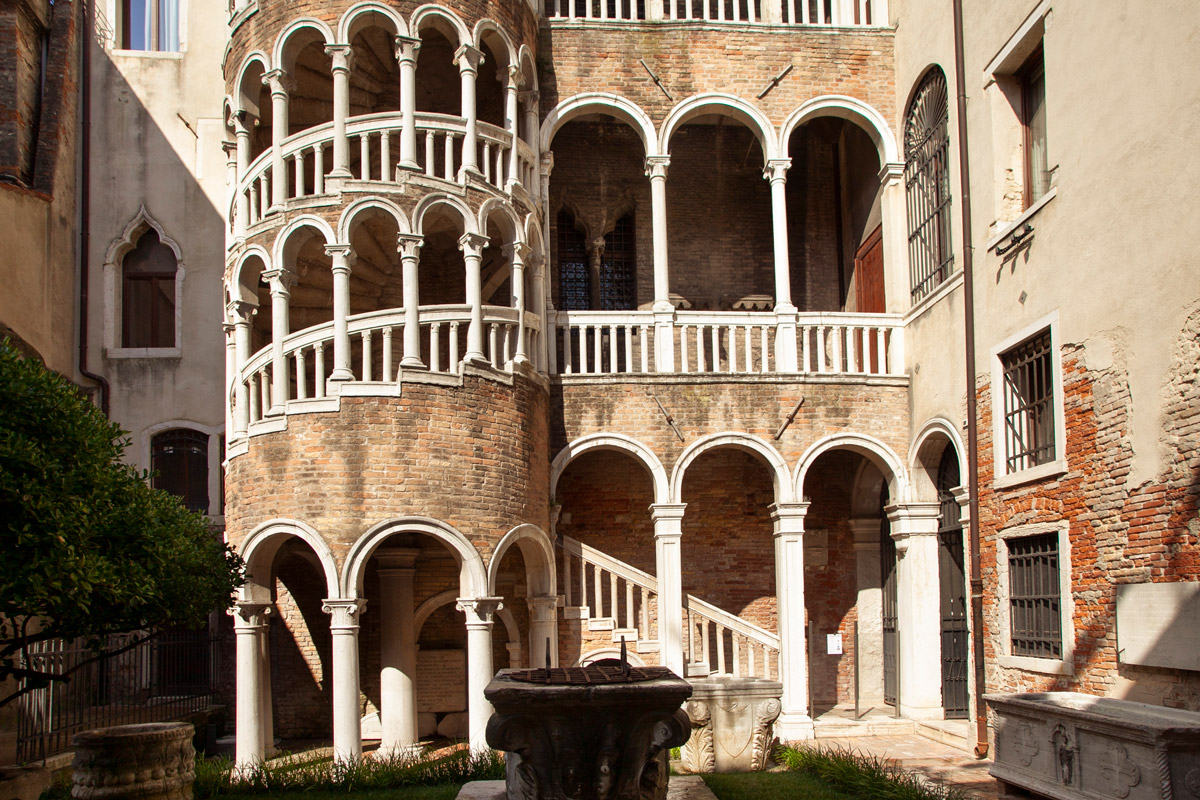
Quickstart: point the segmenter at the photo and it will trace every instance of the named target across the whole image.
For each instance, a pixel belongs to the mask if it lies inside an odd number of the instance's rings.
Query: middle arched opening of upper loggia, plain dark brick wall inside
[[[770,184],[758,137],[738,120],[701,114],[670,142],[667,242],[677,306],[774,306]]]

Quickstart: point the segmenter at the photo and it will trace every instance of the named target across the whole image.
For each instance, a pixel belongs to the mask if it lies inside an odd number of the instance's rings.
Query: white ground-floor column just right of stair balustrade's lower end
[[[775,529],[779,679],[784,684],[784,709],[775,722],[775,734],[784,741],[814,736],[805,661],[804,516],[808,511],[808,503],[781,503],[770,510]]]

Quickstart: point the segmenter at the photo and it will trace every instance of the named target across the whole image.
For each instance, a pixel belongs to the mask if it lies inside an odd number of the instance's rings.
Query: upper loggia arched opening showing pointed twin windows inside
[[[553,151],[554,307],[648,308],[654,301],[654,223],[637,132],[611,116],[584,114],[556,132]]]

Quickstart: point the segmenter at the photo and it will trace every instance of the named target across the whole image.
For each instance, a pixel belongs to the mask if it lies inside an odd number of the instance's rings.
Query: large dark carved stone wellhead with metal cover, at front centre
[[[664,800],[688,740],[691,685],[664,667],[500,672],[487,744],[506,751],[508,800]]]

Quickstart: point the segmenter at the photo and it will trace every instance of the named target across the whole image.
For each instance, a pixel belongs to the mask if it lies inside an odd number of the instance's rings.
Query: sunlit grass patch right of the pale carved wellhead
[[[776,760],[788,770],[817,777],[852,798],[880,800],[965,800],[960,790],[845,747],[782,747]]]

